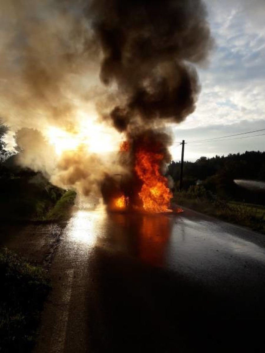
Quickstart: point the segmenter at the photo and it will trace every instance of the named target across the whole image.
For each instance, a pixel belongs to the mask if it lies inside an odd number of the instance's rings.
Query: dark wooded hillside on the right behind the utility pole
[[[265,181],[265,152],[246,151],[228,156],[201,157],[196,162],[184,162],[183,190],[192,185],[202,185],[212,195],[222,199],[234,199],[264,204],[264,192],[244,189],[235,179]],[[180,163],[169,164],[168,175],[179,187]]]

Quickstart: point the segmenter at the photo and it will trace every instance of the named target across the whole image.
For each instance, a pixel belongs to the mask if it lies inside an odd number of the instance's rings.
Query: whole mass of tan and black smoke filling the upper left
[[[130,173],[133,157],[103,158],[104,134],[56,155],[51,127],[80,137],[87,119],[91,138],[100,126],[136,145],[194,111],[194,65],[213,44],[201,0],[3,0],[0,10],[0,116],[17,132],[19,162],[54,183],[87,195],[106,175]],[[155,136],[169,160],[170,138]]]

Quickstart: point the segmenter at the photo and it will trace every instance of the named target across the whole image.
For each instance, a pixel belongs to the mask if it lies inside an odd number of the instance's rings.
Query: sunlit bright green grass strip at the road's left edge
[[[69,217],[72,205],[75,203],[76,192],[68,190],[57,201],[54,208],[49,211],[45,220],[47,221],[64,221]]]

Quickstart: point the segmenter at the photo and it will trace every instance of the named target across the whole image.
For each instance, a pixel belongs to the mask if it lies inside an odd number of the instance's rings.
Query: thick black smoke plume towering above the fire
[[[118,130],[194,111],[200,86],[190,64],[213,43],[201,0],[95,0],[88,13],[104,54],[101,80],[118,87],[110,113]]]

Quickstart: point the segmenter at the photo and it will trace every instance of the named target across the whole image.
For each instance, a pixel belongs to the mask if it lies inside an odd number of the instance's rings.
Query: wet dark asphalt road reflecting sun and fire
[[[80,202],[49,238],[53,289],[35,353],[264,352],[262,235],[190,210]]]

